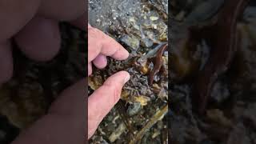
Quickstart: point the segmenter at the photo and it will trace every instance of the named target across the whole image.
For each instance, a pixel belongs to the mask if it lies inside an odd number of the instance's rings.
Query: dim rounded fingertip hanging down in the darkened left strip
[[[54,58],[61,47],[58,22],[46,18],[33,18],[14,39],[28,58],[41,62]]]

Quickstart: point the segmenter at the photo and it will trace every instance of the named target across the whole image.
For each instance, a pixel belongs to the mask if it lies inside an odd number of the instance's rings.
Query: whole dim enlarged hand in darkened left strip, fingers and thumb
[[[0,86],[13,73],[11,41],[26,57],[48,61],[60,48],[59,21],[86,29],[84,0],[0,1]],[[13,144],[85,143],[86,79],[64,90],[48,114],[22,131]]]

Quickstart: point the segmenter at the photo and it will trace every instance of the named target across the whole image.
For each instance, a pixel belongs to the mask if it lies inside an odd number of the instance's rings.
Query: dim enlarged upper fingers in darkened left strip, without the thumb
[[[84,0],[0,1],[0,85],[13,74],[11,40],[26,57],[48,61],[60,48],[59,21],[86,30]]]

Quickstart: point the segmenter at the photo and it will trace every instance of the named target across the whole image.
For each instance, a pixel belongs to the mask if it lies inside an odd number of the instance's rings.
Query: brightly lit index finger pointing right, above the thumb
[[[128,58],[128,51],[101,30],[88,25],[88,62],[103,54],[117,60]]]

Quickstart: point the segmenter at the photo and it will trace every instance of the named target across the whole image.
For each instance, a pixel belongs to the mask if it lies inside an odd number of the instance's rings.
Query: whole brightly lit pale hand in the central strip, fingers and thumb
[[[92,63],[102,69],[106,66],[106,56],[117,60],[128,58],[129,53],[113,38],[88,25],[88,75],[92,74]],[[94,134],[102,119],[118,102],[122,86],[130,79],[130,74],[120,71],[95,90],[88,98],[88,139]]]

